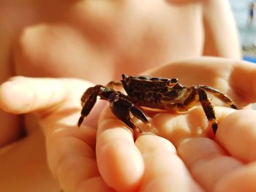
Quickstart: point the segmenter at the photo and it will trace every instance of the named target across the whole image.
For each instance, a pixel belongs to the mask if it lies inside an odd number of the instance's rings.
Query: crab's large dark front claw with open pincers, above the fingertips
[[[131,114],[134,115],[136,118],[143,121],[143,123],[146,123],[147,126],[151,126],[151,123],[149,123],[148,118],[146,118],[146,115],[138,108],[136,107],[129,99],[127,99],[127,96],[124,96],[123,93],[116,92],[113,93],[110,96],[110,109],[113,112],[114,115],[120,120],[122,120],[127,126],[130,128],[138,129],[138,131],[142,132],[138,126],[135,125],[131,118]]]

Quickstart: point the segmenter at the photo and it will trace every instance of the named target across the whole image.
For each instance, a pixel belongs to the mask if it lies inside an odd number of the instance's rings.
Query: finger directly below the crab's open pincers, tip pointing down
[[[109,109],[99,120],[97,163],[105,182],[116,191],[135,191],[143,177],[144,164],[132,132]]]

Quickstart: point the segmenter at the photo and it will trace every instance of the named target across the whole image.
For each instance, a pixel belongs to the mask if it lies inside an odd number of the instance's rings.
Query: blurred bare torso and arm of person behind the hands
[[[104,85],[122,72],[139,74],[179,58],[239,58],[232,19],[227,0],[3,0],[0,83],[25,75]],[[49,101],[45,108],[51,103],[56,104]],[[45,138],[31,116],[0,111],[0,191],[59,188],[45,162]],[[15,185],[12,178],[19,178]]]

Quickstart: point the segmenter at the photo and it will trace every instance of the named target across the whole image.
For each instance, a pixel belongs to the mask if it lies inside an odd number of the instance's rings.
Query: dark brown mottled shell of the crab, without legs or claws
[[[166,102],[176,102],[190,92],[178,83],[178,78],[122,75],[122,85],[128,96],[138,105],[168,110]]]

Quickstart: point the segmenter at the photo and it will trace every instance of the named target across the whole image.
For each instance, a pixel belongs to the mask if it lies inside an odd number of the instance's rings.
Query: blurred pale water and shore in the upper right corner
[[[256,63],[256,0],[230,0],[244,59]]]

